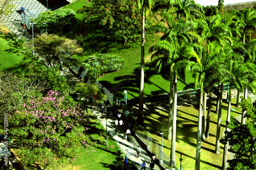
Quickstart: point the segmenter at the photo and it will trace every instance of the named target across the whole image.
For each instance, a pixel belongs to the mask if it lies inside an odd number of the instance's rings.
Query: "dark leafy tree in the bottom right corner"
[[[227,160],[227,169],[255,169],[255,132],[256,132],[256,109],[247,100],[242,98],[241,107],[247,110],[248,122],[241,124],[236,118],[231,116],[228,123],[230,131],[225,132],[225,138],[221,142],[229,143],[230,149],[236,152],[234,158]]]

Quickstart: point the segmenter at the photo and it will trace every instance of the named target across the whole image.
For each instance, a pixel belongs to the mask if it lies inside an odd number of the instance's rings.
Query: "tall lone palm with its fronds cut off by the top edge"
[[[145,55],[145,16],[147,16],[153,6],[152,0],[138,0],[138,9],[141,11],[141,57],[140,57],[140,89],[139,89],[139,114],[138,122],[144,123],[143,117],[143,95],[144,95],[144,55]]]

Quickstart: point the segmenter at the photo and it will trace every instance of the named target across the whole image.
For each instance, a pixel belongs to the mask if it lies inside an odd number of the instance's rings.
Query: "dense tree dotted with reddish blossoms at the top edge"
[[[122,41],[124,44],[133,41],[140,30],[141,15],[135,1],[95,0],[91,7],[83,6],[78,13],[83,21],[89,23],[97,17],[99,27],[109,40]]]

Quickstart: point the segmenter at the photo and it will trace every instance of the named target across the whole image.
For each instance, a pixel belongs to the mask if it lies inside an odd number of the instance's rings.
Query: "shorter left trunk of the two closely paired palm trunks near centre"
[[[172,123],[173,123],[173,98],[174,98],[174,77],[170,81],[169,111],[167,120],[167,140],[172,139]]]

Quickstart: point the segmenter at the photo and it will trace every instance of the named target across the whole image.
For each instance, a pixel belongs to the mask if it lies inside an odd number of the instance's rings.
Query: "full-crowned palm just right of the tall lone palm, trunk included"
[[[175,161],[175,145],[176,145],[176,114],[177,114],[177,75],[181,79],[185,79],[184,71],[174,69],[175,64],[184,56],[186,41],[200,41],[200,37],[189,30],[193,29],[194,23],[186,22],[180,19],[176,23],[171,23],[171,28],[163,26],[155,26],[153,30],[164,32],[165,34],[157,44],[152,46],[149,53],[155,52],[152,55],[154,59],[150,66],[155,67],[158,72],[169,72],[170,81],[170,96],[169,96],[169,116],[167,123],[168,135],[167,139],[172,138],[170,157]],[[166,71],[167,70],[167,71]]]

